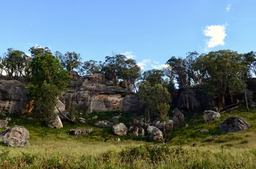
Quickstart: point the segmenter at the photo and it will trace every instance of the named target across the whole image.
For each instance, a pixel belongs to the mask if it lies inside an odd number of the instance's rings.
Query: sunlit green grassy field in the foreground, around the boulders
[[[202,112],[186,112],[187,128],[177,128],[168,134],[166,144],[148,143],[147,137],[122,136],[116,142],[111,129],[99,129],[93,124],[98,120],[122,116],[128,125],[132,116],[123,112],[94,112],[96,120],[83,124],[64,124],[62,129],[47,128],[43,120],[26,120],[12,117],[8,126],[21,125],[29,130],[29,147],[0,146],[0,168],[4,169],[214,169],[256,168],[256,112],[221,114],[221,119],[204,123]],[[251,128],[234,133],[218,131],[220,121],[228,115],[244,117]],[[140,118],[135,116],[136,118]],[[13,123],[15,122],[15,124]],[[90,135],[69,135],[70,129],[93,129]],[[195,131],[207,129],[209,133]],[[3,129],[1,129],[3,131]],[[107,141],[106,140],[110,140]],[[146,141],[145,141],[146,140]]]

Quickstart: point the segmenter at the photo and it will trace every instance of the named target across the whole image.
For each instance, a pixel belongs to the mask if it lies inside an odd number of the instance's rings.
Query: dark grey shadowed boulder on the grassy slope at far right
[[[222,132],[238,132],[249,129],[250,123],[243,117],[228,116],[227,119],[219,125],[219,130]]]

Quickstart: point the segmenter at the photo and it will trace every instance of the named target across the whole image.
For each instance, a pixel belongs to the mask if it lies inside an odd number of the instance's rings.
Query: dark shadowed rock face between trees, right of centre
[[[200,86],[186,86],[180,89],[180,96],[177,99],[177,107],[187,111],[200,111],[210,109],[212,101],[206,93],[200,92]]]

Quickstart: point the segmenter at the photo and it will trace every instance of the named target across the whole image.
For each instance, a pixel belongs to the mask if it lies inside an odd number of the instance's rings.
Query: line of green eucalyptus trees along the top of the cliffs
[[[5,71],[10,79],[18,80],[23,77],[31,83],[30,93],[35,98],[39,97],[39,91],[47,91],[44,88],[58,89],[51,93],[60,97],[61,91],[66,88],[70,80],[72,71],[76,71],[80,76],[94,73],[105,74],[115,85],[120,84],[127,90],[138,93],[140,98],[144,99],[144,101],[141,100],[143,104],[145,100],[155,100],[150,93],[156,92],[148,91],[161,91],[162,88],[159,85],[169,93],[175,89],[175,83],[179,87],[204,86],[207,94],[216,98],[218,107],[222,108],[225,106],[225,97],[228,95],[235,95],[239,92],[244,92],[246,95],[247,80],[256,74],[256,52],[253,51],[245,54],[231,50],[219,50],[208,54],[188,52],[183,58],[171,57],[167,60],[166,67],[161,70],[152,69],[144,72],[135,60],[128,59],[122,54],[113,53],[112,56],[105,57],[104,62],[95,60],[82,62],[80,54],[76,52],[61,54],[57,51],[53,54],[47,47],[32,47],[29,52],[31,52],[31,57],[22,51],[7,49],[7,52],[0,58],[0,75],[2,76]],[[55,100],[58,97],[55,97]],[[35,105],[37,100],[35,99]],[[167,100],[165,103],[169,104],[170,99],[165,100]],[[160,111],[160,107],[164,107],[164,103],[161,103],[162,105],[159,103],[157,106],[145,103],[144,108],[151,105],[155,107],[155,112],[165,112]],[[44,106],[36,107],[42,111]],[[54,103],[51,106],[54,107]],[[168,106],[166,108],[168,109]],[[150,108],[150,110],[154,109]],[[49,109],[49,112],[51,111],[52,109]]]

